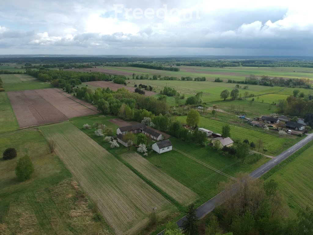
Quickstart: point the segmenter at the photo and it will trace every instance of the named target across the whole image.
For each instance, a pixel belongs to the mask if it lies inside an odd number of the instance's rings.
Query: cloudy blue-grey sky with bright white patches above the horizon
[[[10,0],[0,55],[313,56],[313,3]]]

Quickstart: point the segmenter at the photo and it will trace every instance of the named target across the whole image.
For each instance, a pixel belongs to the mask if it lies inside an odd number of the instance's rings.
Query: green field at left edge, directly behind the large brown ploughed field
[[[34,80],[32,76],[22,74],[1,74],[5,91],[23,91],[51,88],[46,82]]]

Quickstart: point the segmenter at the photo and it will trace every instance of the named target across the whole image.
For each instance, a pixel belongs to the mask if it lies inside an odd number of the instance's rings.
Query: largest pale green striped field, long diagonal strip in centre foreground
[[[69,122],[41,127],[57,143],[56,154],[95,202],[115,234],[135,234],[156,205],[175,207],[112,154]]]

